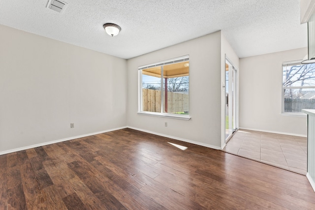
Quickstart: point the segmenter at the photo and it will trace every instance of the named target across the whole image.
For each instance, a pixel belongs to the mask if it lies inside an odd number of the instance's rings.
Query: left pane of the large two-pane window
[[[142,70],[142,111],[161,112],[161,67]]]

